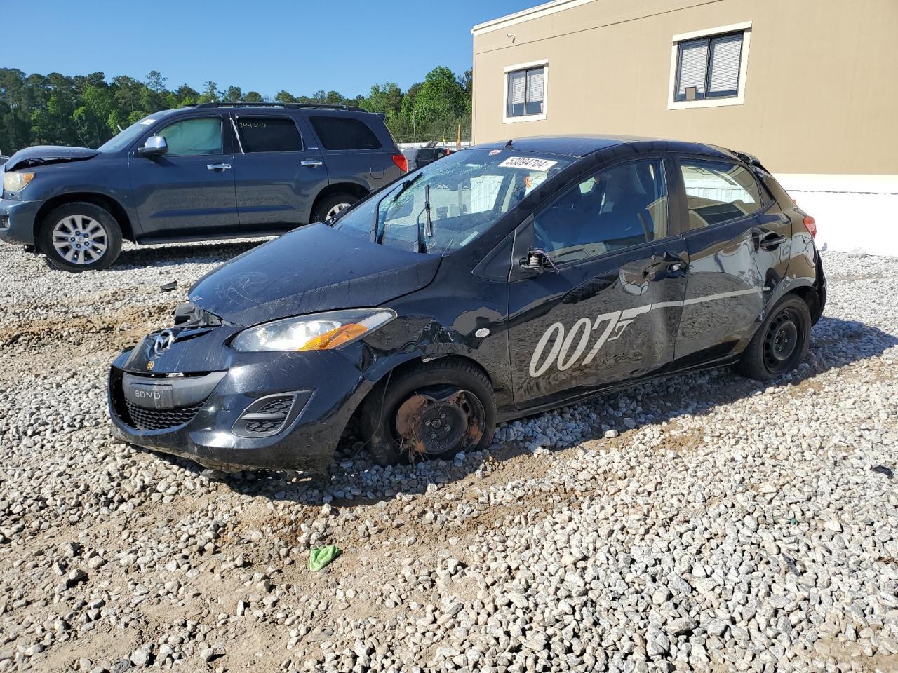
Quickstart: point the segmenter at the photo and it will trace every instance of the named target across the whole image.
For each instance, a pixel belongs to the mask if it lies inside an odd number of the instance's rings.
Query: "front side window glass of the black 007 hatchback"
[[[568,188],[533,223],[536,248],[568,262],[667,235],[661,159],[621,163]]]

